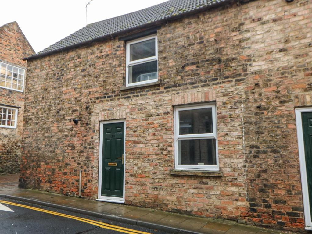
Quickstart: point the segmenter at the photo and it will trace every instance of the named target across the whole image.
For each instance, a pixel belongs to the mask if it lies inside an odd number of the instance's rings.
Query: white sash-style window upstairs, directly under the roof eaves
[[[126,44],[126,86],[148,84],[158,80],[157,35]]]

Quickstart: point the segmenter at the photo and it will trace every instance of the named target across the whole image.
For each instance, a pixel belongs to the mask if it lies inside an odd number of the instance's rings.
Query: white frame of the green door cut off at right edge
[[[304,215],[305,215],[305,230],[312,230],[309,191],[308,191],[308,179],[307,179],[307,170],[306,170],[306,165],[305,165],[305,147],[303,143],[302,119],[301,119],[302,112],[312,112],[312,107],[303,107],[303,108],[295,109],[303,209],[304,209]]]

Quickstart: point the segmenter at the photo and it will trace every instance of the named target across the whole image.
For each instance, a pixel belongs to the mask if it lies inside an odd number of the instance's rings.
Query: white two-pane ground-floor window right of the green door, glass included
[[[174,166],[177,170],[219,170],[215,104],[174,108]]]

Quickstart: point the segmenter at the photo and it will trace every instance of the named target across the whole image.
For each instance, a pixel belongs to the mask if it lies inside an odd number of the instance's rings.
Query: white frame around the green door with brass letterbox
[[[96,201],[124,203],[124,194],[122,198],[101,196],[102,187],[102,160],[103,160],[103,128],[104,124],[108,123],[124,123],[124,190],[126,178],[126,120],[109,120],[100,122],[100,147],[99,147],[99,179],[98,179],[98,199]]]

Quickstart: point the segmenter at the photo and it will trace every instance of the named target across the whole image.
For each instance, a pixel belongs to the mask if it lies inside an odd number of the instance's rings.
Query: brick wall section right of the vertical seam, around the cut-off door
[[[241,12],[248,36],[239,40],[251,56],[244,114],[250,222],[304,227],[294,110],[312,105],[311,3],[253,2],[261,10]]]

